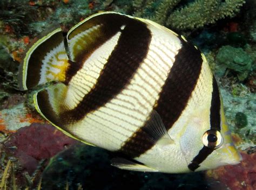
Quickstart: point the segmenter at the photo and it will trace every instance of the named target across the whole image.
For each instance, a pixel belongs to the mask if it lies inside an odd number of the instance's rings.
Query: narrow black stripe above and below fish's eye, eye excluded
[[[212,100],[210,108],[210,124],[211,129],[220,131],[220,94],[216,79],[212,78]],[[200,164],[213,152],[214,149],[210,149],[204,146],[196,157],[188,165],[191,171],[196,170]]]

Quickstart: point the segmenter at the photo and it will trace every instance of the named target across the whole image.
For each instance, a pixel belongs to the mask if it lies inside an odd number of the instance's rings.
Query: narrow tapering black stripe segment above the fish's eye
[[[220,94],[216,79],[212,79],[212,101],[210,109],[211,129],[220,131]]]

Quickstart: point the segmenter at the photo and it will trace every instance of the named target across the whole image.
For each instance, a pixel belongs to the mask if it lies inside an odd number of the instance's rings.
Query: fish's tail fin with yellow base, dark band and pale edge
[[[68,65],[62,30],[55,27],[26,52],[19,67],[19,89],[27,90],[49,81],[65,81]]]

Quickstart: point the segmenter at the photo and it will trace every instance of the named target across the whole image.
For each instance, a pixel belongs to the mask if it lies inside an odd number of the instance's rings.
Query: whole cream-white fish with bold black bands
[[[205,56],[150,20],[104,12],[63,38],[54,29],[26,52],[22,90],[66,135],[118,152],[112,165],[184,173],[238,164]],[[53,84],[52,84],[53,83]]]

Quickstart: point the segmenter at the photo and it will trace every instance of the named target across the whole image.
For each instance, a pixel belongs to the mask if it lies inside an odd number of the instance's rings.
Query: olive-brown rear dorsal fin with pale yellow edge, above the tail
[[[73,26],[67,35],[69,59],[83,62],[90,54],[129,22],[126,15],[117,12],[101,12]]]

